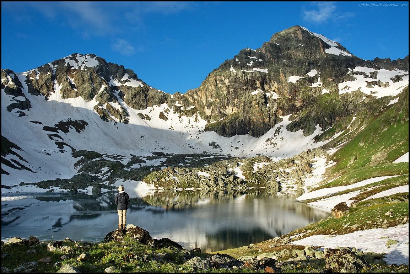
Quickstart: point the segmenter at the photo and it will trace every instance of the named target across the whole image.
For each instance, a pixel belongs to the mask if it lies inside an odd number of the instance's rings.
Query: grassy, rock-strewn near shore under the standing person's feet
[[[271,247],[280,251],[258,256],[201,253],[183,249],[168,238],[153,239],[148,231],[128,224],[109,232],[102,242],[40,242],[14,237],[2,242],[2,273],[10,272],[408,272],[408,265],[387,265],[383,253],[355,247],[325,248],[290,244],[291,237],[276,237]],[[248,249],[253,249],[250,244]],[[278,250],[279,250],[278,249]],[[117,254],[118,256],[116,256]],[[125,254],[125,255],[124,255]],[[115,256],[115,259],[111,257]],[[171,268],[163,268],[163,267]],[[148,267],[148,268],[147,268]],[[159,267],[159,269],[157,269]],[[162,268],[161,268],[162,267]],[[91,270],[91,271],[90,271]],[[310,271],[309,271],[310,270]]]

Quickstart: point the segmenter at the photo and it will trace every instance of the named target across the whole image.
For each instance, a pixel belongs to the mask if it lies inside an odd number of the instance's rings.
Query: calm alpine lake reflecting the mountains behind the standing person
[[[127,224],[167,237],[186,249],[218,251],[261,242],[326,219],[323,212],[289,194],[268,192],[127,191]],[[101,241],[118,227],[115,193],[2,195],[2,239]],[[144,194],[145,195],[145,194]]]

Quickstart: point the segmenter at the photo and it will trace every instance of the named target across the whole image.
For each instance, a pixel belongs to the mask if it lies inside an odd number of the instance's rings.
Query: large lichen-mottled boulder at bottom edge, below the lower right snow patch
[[[333,272],[360,272],[368,263],[348,249],[325,248],[325,267]]]

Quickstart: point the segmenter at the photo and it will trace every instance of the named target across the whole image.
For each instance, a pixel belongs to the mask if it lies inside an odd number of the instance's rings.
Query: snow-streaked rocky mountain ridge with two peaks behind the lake
[[[111,166],[84,168],[93,160],[119,161],[125,173],[149,167],[145,176],[170,153],[292,157],[355,128],[358,110],[371,105],[376,115],[374,100],[379,111],[397,103],[408,63],[380,62],[295,26],[241,50],[185,94],[166,94],[92,54],[2,69],[2,185],[107,179]]]

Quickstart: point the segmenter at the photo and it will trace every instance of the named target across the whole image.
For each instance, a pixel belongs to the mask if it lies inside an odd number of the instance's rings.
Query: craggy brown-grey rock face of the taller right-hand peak
[[[210,120],[207,130],[226,137],[259,137],[288,114],[294,114],[288,130],[310,135],[317,124],[326,129],[362,107],[363,94],[338,94],[339,83],[355,80],[350,71],[357,66],[380,69],[339,43],[295,26],[274,34],[261,48],[241,50],[178,100],[196,105]],[[307,113],[312,107],[315,111]]]

